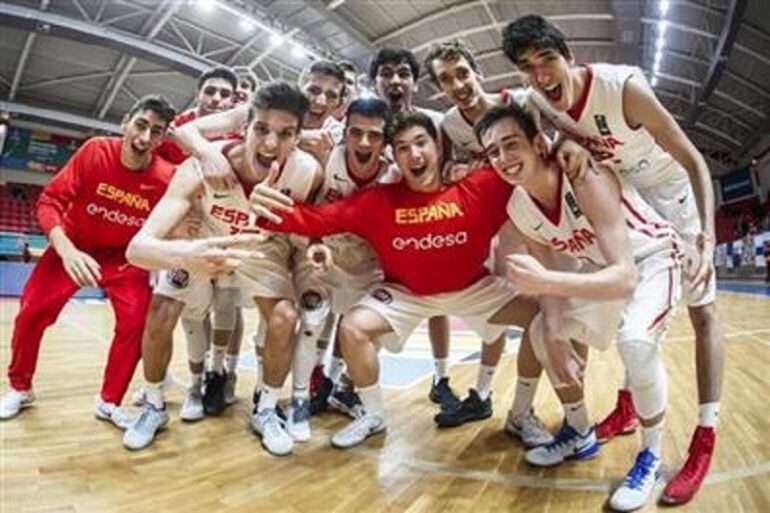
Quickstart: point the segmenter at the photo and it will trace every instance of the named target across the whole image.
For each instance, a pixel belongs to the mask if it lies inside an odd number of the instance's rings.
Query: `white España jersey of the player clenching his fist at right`
[[[559,174],[558,194],[560,201],[556,210],[546,212],[523,187],[516,187],[508,202],[508,215],[527,237],[583,264],[605,267],[607,260],[594,228],[580,210],[564,173]],[[649,257],[659,256],[670,257],[670,263],[675,265],[681,258],[682,246],[671,225],[658,216],[633,187],[621,185],[621,207],[635,262],[639,264]]]

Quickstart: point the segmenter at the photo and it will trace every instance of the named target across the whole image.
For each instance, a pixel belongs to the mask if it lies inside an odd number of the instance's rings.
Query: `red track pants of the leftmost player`
[[[120,404],[128,389],[142,350],[142,332],[152,291],[147,272],[125,262],[103,263],[99,286],[115,310],[115,335],[107,357],[102,399]],[[113,259],[114,260],[114,259]],[[67,275],[56,251],[49,247],[24,286],[21,309],[13,330],[8,379],[15,390],[29,390],[45,330],[80,287]]]

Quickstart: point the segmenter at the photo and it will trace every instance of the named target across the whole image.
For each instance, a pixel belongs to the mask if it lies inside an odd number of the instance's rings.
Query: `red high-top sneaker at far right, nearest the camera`
[[[717,437],[714,428],[698,426],[692,435],[687,461],[677,475],[668,482],[661,500],[666,504],[684,504],[692,499],[711,466],[711,456]]]

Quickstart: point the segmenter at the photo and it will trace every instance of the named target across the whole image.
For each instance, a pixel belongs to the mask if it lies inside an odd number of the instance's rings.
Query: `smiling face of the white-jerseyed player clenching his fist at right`
[[[527,138],[515,119],[507,117],[495,122],[481,136],[489,163],[500,178],[513,185],[526,187],[545,164],[546,143],[542,134]]]

